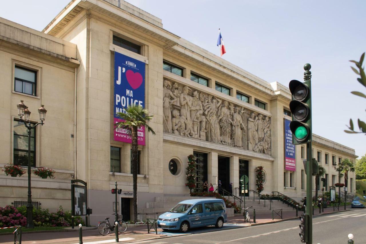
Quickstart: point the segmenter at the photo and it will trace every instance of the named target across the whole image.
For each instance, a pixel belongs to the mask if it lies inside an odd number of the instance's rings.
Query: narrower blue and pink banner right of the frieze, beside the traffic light
[[[292,132],[290,122],[285,119],[284,138],[285,138],[285,170],[296,170],[295,145],[292,144]]]

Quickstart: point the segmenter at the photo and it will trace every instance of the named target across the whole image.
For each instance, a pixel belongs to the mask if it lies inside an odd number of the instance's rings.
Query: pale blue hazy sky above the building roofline
[[[52,2],[52,4],[50,4]],[[69,0],[3,1],[0,16],[42,30]],[[366,51],[366,1],[293,0],[128,0],[162,19],[164,29],[219,55],[268,82],[288,86],[312,68],[313,133],[366,153],[366,137],[346,134],[352,118],[366,120],[366,100],[352,95],[365,88],[350,59]]]

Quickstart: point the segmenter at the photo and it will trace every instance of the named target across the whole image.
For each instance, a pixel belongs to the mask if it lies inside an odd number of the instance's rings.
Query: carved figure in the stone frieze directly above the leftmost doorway
[[[203,115],[203,107],[201,101],[199,100],[199,94],[197,90],[193,92],[192,97],[191,119],[193,123],[193,137],[199,138],[200,133],[206,132],[206,117]]]

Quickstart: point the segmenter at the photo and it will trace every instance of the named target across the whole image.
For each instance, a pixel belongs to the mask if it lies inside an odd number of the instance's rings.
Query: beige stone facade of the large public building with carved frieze
[[[254,169],[263,166],[263,193],[305,196],[301,145],[296,170],[284,167],[289,89],[164,30],[156,16],[122,0],[72,0],[42,32],[0,19],[0,40],[1,166],[17,163],[16,104],[25,100],[31,111],[44,104],[48,112],[36,129],[35,164],[56,175],[32,177],[32,199],[42,207],[70,209],[70,180],[76,178],[87,182],[92,223],[113,211],[115,181],[122,189],[120,208],[132,213],[131,145],[114,140],[116,52],[145,63],[145,107],[154,116],[149,125],[156,135],[146,133],[145,145],[138,146],[139,211],[155,197],[189,193],[184,184],[191,154],[198,158],[198,190],[204,180],[215,188],[221,180],[225,188],[233,182],[235,191],[245,174],[255,191]],[[15,91],[15,67],[35,72],[37,93]],[[31,119],[37,121],[36,112]],[[313,140],[314,155],[320,152],[329,172],[329,189],[337,174],[332,157],[355,162],[355,151],[316,135]],[[354,173],[349,178],[352,192]],[[27,177],[1,174],[0,205],[26,200],[26,187]]]

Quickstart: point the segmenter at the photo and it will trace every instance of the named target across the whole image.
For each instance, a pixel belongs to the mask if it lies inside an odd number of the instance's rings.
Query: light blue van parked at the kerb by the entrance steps
[[[163,230],[187,232],[190,228],[216,225],[222,228],[227,222],[225,202],[222,199],[192,199],[178,203],[159,216],[158,227]]]

